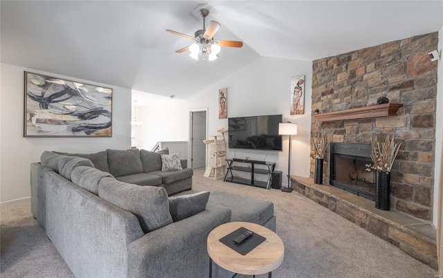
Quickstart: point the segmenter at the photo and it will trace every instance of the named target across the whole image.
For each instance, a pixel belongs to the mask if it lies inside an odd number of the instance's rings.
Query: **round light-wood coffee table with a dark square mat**
[[[260,234],[260,236],[266,238],[266,241],[260,243],[245,255],[239,254],[219,241],[222,237],[241,227]],[[268,276],[271,277],[271,272],[282,264],[284,245],[275,232],[262,225],[248,222],[229,222],[219,225],[209,233],[208,254],[210,257],[209,277],[212,276],[212,261],[222,268],[238,274],[260,275],[269,273]]]

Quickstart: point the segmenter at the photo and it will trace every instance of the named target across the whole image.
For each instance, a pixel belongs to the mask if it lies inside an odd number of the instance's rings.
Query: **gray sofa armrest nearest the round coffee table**
[[[128,245],[128,277],[201,277],[209,273],[206,239],[213,228],[228,221],[230,210],[219,207],[136,239]]]

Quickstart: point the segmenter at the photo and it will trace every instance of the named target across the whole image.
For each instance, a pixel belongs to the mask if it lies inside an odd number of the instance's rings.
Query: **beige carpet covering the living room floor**
[[[277,234],[284,242],[285,252],[284,261],[273,277],[433,278],[437,275],[437,271],[390,243],[296,192],[224,183],[204,178],[203,173],[203,169],[195,170],[192,190],[181,194],[225,190],[274,203]],[[0,246],[1,277],[73,277],[44,229],[31,216],[29,200],[1,205]]]

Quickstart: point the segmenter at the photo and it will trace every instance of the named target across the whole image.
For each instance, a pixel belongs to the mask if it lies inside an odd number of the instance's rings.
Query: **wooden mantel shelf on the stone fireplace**
[[[397,115],[397,111],[401,106],[403,106],[403,104],[399,103],[376,104],[342,111],[314,114],[314,117],[318,122],[384,117],[388,115]]]

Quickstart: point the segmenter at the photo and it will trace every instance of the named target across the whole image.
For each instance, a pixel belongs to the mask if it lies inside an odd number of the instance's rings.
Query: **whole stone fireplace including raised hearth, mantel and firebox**
[[[318,113],[311,138],[326,135],[330,143],[323,184],[314,183],[314,159],[309,178],[291,178],[296,192],[434,269],[437,62],[428,52],[437,42],[431,33],[313,61],[311,110]],[[381,97],[389,104],[377,105]],[[375,111],[383,105],[395,111]],[[383,133],[401,142],[390,171],[389,212],[375,207],[374,172],[365,171],[371,138]]]

